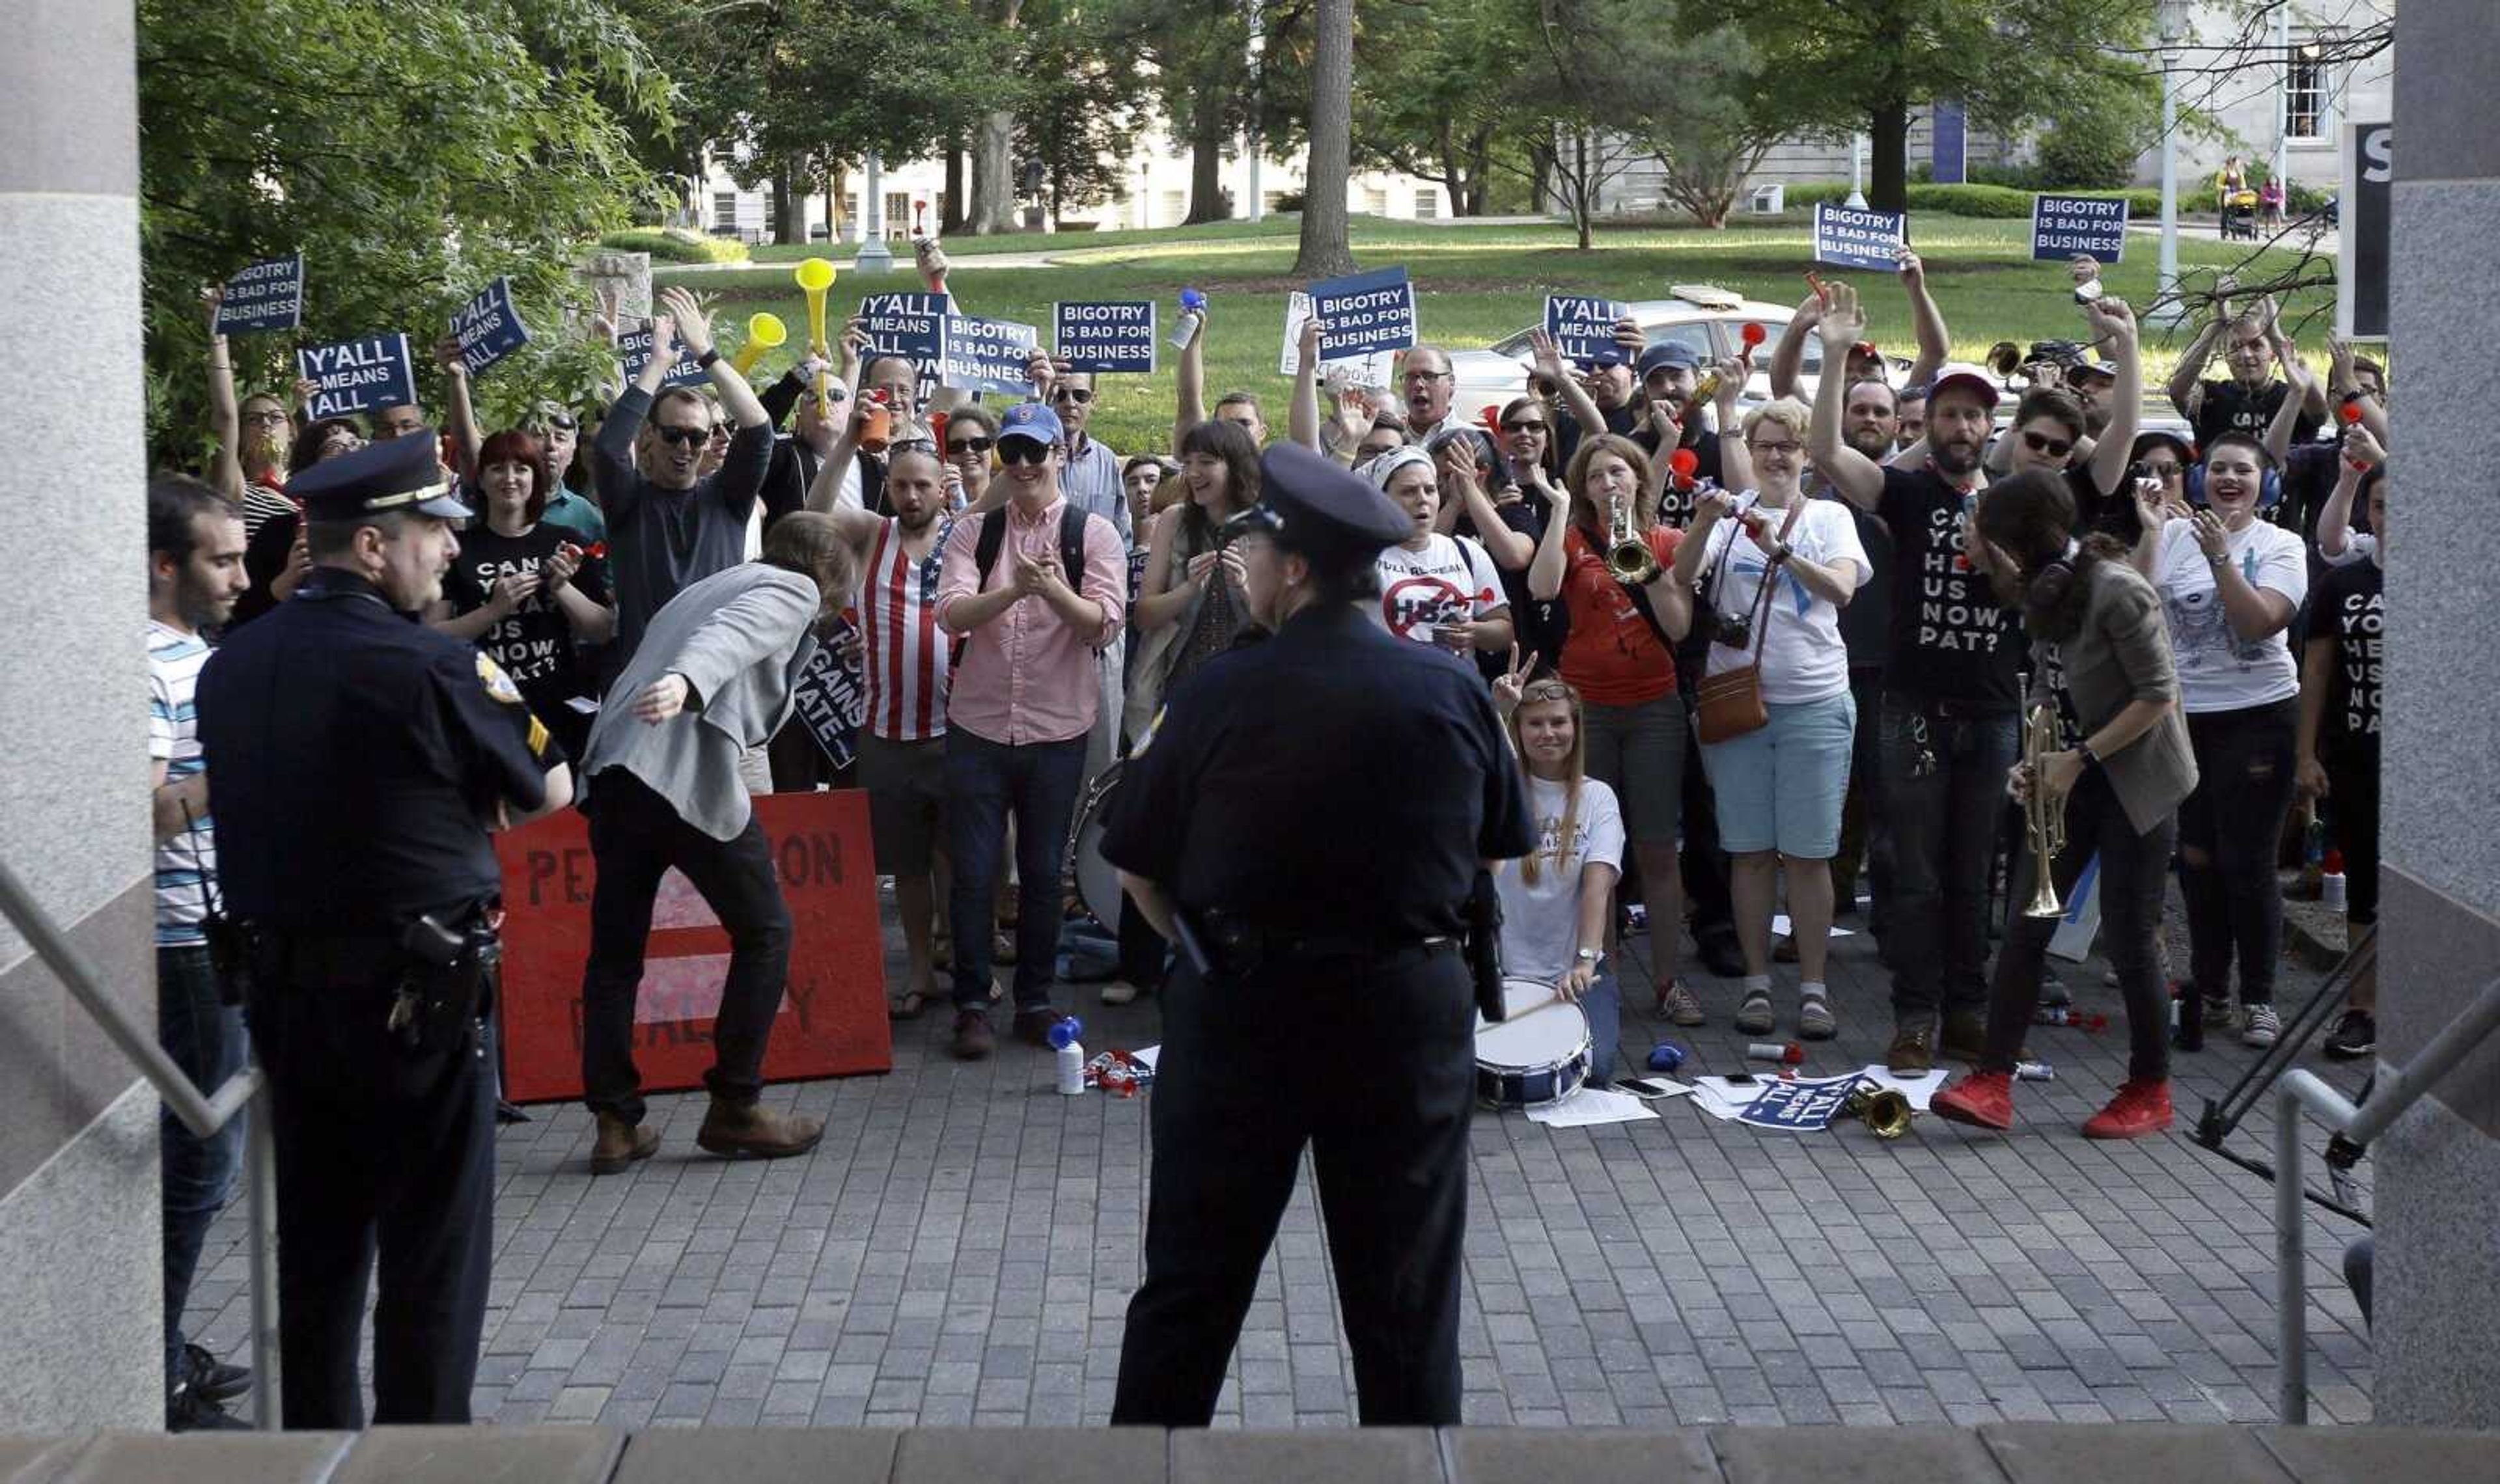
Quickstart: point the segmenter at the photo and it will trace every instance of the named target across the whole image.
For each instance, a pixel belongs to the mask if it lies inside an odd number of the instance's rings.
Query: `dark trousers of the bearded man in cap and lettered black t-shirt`
[[[1875,749],[1892,899],[1880,949],[1895,1017],[1988,1004],[1988,877],[2018,735],[2012,712],[1948,715],[1902,692],[1882,697]]]

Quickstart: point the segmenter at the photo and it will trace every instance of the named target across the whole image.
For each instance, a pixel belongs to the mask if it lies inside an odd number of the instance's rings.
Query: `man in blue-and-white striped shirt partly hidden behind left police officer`
[[[242,1009],[228,1004],[208,952],[218,837],[208,817],[208,772],[192,690],[208,665],[200,630],[222,625],[250,587],[242,517],[215,490],[180,475],[148,485],[148,759],[158,839],[158,1039],[202,1089],[242,1067]],[[240,1397],[250,1372],[218,1364],[182,1342],[182,1304],[200,1267],[208,1224],[235,1187],[242,1119],[208,1139],[160,1114],[158,1159],[165,1217],[165,1427],[240,1429],[218,1402]]]

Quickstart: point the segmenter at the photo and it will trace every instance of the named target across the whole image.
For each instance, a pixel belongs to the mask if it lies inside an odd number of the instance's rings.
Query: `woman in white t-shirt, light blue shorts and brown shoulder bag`
[[[1805,402],[1780,397],[1745,415],[1745,452],[1758,490],[1705,490],[1692,530],[1675,552],[1675,580],[1702,580],[1700,602],[1718,612],[1708,675],[1762,665],[1770,725],[1702,744],[1718,794],[1720,844],[1735,894],[1735,932],[1745,947],[1745,997],[1735,1027],[1765,1034],[1770,1004],[1770,909],[1788,869],[1788,917],[1798,939],[1798,1034],[1840,1029],[1822,982],[1832,932],[1832,854],[1840,852],[1840,799],[1850,787],[1850,652],[1840,610],[1870,580],[1858,522],[1835,500],[1808,500]],[[1770,582],[1765,602],[1762,585]],[[1752,625],[1762,625],[1758,632]]]

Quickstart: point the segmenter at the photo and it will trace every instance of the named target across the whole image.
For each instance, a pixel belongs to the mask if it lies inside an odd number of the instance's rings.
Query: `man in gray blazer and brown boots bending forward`
[[[730,934],[730,972],[712,1022],[712,1107],[695,1144],[712,1154],[805,1154],[820,1119],[758,1104],[765,1042],[790,974],[790,909],[738,759],[790,717],[790,690],[822,620],[855,580],[830,515],[772,525],[762,557],[672,597],[608,690],[582,749],[590,854],[590,962],[582,969],[582,1087],[598,1114],[590,1172],[612,1174],[660,1147],[642,1127],[632,1064],[635,989],[660,877],[678,867]]]

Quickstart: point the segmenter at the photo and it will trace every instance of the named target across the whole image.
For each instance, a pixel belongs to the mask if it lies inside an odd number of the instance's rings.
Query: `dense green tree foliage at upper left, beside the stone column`
[[[562,335],[572,265],[652,205],[620,120],[670,87],[608,0],[140,0],[138,75],[155,457],[205,452],[200,287],[265,257],[305,255],[305,325],[235,340],[245,390],[285,395],[295,342],[405,330],[422,362],[495,277],[538,340],[482,377],[490,417],[612,365]]]

